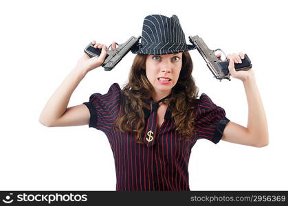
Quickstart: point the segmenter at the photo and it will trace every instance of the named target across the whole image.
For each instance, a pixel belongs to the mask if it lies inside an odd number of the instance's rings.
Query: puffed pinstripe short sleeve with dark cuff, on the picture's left
[[[89,102],[83,102],[90,112],[89,127],[108,133],[113,127],[120,111],[122,90],[118,83],[109,88],[108,93],[93,93]]]

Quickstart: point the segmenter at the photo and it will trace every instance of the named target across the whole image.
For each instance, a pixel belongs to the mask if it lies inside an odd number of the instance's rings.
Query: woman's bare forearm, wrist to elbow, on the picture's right
[[[247,129],[256,144],[268,144],[267,119],[254,73],[243,81],[248,103]]]

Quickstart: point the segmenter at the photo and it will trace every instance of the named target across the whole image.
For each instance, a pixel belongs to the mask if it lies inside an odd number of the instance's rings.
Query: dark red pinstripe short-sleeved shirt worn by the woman
[[[148,148],[137,144],[132,133],[122,133],[114,128],[120,113],[122,90],[119,84],[111,85],[108,93],[93,93],[84,102],[90,111],[89,127],[102,130],[107,135],[115,159],[117,191],[188,190],[188,163],[191,148],[197,139],[205,138],[217,144],[225,125],[230,121],[223,108],[217,106],[203,93],[198,100],[196,131],[189,141],[179,140],[171,119],[169,106],[164,122],[155,134],[155,145]],[[150,111],[144,109],[148,119]],[[149,122],[147,122],[149,124]]]

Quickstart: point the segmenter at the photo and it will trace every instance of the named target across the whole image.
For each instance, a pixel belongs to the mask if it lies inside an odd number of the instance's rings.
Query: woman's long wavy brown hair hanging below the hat
[[[153,85],[146,77],[145,67],[148,55],[137,54],[134,58],[129,82],[122,89],[121,113],[115,122],[115,128],[129,133],[137,138],[137,143],[143,144],[142,136],[145,129],[143,108],[151,109],[151,98],[154,92]],[[171,97],[164,100],[169,104],[175,128],[182,139],[189,140],[195,130],[195,112],[198,88],[192,78],[193,64],[189,52],[182,54],[182,67],[179,79],[171,91]]]

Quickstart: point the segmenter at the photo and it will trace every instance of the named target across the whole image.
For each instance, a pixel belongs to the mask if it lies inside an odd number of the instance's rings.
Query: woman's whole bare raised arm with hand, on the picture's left
[[[89,124],[90,113],[84,104],[67,108],[72,93],[86,74],[102,65],[107,54],[107,46],[93,41],[94,47],[102,49],[99,58],[89,58],[84,54],[76,67],[69,73],[58,89],[49,98],[39,117],[44,126],[79,126]],[[115,45],[113,45],[115,47]],[[113,48],[114,49],[114,48]]]

